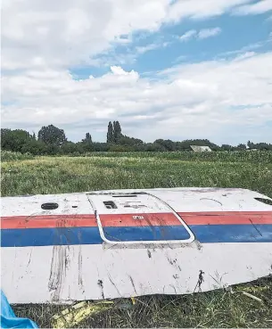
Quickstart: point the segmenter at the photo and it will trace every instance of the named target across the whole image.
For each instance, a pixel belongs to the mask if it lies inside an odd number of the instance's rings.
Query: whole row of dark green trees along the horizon
[[[43,126],[35,133],[30,134],[22,129],[1,129],[1,148],[12,152],[29,152],[34,155],[54,155],[85,152],[167,152],[167,151],[191,151],[190,145],[210,146],[212,151],[241,151],[245,149],[258,149],[272,151],[272,144],[247,144],[232,146],[229,144],[217,145],[208,139],[187,139],[182,142],[174,142],[170,139],[156,139],[153,143],[144,143],[141,139],[122,134],[120,122],[111,121],[108,124],[105,143],[97,143],[92,140],[89,132],[80,142],[70,142],[63,129],[54,125]]]

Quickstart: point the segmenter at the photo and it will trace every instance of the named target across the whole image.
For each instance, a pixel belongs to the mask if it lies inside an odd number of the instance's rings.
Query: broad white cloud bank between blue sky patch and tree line
[[[222,143],[246,140],[252,131],[264,140],[269,132],[265,136],[263,126],[272,120],[271,71],[272,53],[178,65],[156,81],[120,67],[86,80],[74,80],[66,70],[29,70],[3,78],[4,103],[16,103],[3,106],[2,123],[53,123],[65,126],[68,136],[78,129],[79,139],[92,123],[101,129],[118,118],[126,134],[147,141],[198,136],[218,141],[222,131],[229,134]]]

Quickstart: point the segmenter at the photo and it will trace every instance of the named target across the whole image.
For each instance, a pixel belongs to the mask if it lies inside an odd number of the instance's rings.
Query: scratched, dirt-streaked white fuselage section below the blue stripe
[[[11,303],[46,303],[191,293],[200,270],[204,272],[202,292],[268,275],[271,243],[237,244],[205,244],[201,251],[195,244],[173,250],[103,250],[99,245],[6,248],[2,251],[2,287]],[[60,252],[69,254],[69,263],[59,273],[60,265],[56,267],[55,286],[50,291],[52,258]]]

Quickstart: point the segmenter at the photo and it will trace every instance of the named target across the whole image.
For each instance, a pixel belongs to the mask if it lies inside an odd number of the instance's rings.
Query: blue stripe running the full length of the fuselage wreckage
[[[200,243],[272,243],[272,225],[192,225]],[[111,241],[187,239],[182,226],[103,227]],[[98,227],[2,229],[2,247],[101,244]]]

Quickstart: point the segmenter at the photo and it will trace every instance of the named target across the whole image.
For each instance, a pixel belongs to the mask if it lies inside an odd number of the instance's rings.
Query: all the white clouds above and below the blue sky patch
[[[120,53],[119,64],[107,62],[109,70],[101,77],[76,80],[70,73],[70,67],[80,64],[106,66],[103,56],[107,61],[111,49],[129,45],[138,31],[149,33],[162,24],[217,16],[249,4],[251,0],[4,0],[2,126],[37,129],[53,123],[80,139],[90,127],[103,131],[109,119],[118,118],[125,133],[148,141],[213,138],[224,127],[243,126],[245,131],[265,125],[272,119],[272,53],[177,65],[152,78],[125,70]],[[203,31],[190,34],[200,38]]]

